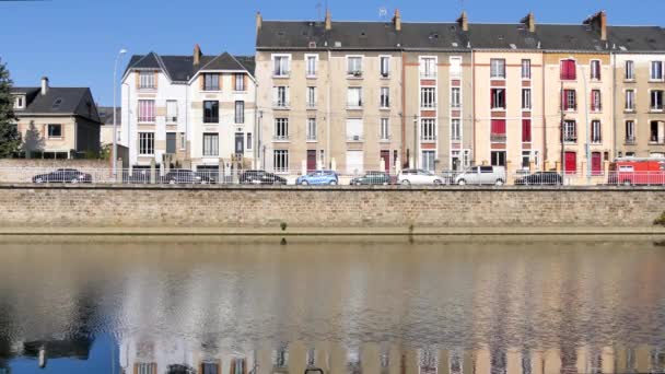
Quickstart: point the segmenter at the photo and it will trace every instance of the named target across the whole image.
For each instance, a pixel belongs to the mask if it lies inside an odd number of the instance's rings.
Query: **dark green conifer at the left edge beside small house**
[[[21,135],[16,128],[11,86],[12,80],[9,77],[9,70],[0,60],[0,159],[13,156],[21,148]]]

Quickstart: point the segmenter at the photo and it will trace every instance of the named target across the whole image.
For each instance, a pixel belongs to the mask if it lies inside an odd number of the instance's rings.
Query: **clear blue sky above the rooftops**
[[[581,24],[606,10],[615,25],[665,26],[665,0],[0,0],[0,62],[14,85],[90,86],[101,105],[113,104],[114,63],[151,50],[189,55],[224,50],[253,55],[255,15],[265,20],[316,20],[326,3],[332,20],[381,21],[380,9],[399,9],[404,22],[452,22],[465,9],[469,22]],[[322,11],[323,12],[323,11]],[[389,16],[388,16],[389,17]]]

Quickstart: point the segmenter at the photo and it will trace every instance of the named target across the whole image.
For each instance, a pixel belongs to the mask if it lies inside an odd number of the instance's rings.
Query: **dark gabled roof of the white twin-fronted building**
[[[232,56],[222,52],[217,56],[201,56],[198,65],[194,65],[191,55],[161,56],[154,51],[147,55],[135,55],[129,60],[125,74],[129,70],[161,70],[174,82],[188,82],[201,70],[237,70],[247,71],[254,75],[254,58]]]

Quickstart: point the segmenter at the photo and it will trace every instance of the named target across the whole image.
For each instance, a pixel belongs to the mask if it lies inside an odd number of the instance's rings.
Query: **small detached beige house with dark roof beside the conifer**
[[[88,87],[12,87],[26,157],[73,159],[100,153],[100,116]]]

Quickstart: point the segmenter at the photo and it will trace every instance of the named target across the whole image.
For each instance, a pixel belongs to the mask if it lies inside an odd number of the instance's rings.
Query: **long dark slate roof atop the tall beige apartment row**
[[[536,24],[534,33],[523,23],[469,23],[463,31],[456,22],[402,22],[397,32],[393,22],[262,21],[257,49],[340,50],[459,50],[533,49],[606,51],[665,51],[665,32],[658,26],[608,26],[608,40],[586,24]]]

